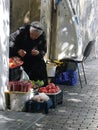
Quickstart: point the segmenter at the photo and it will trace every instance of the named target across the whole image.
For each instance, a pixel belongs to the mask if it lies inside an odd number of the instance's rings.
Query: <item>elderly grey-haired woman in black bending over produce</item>
[[[45,85],[48,83],[44,61],[46,52],[46,36],[39,22],[20,27],[10,36],[10,57],[20,57],[30,80],[43,80]]]

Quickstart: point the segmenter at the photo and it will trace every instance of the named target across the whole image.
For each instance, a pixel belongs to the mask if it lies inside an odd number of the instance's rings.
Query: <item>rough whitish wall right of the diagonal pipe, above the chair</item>
[[[75,1],[75,0],[74,0]],[[97,57],[98,53],[98,0],[83,0],[76,5],[77,15],[80,21],[80,30],[83,39],[83,47],[89,40],[95,39],[92,57]]]

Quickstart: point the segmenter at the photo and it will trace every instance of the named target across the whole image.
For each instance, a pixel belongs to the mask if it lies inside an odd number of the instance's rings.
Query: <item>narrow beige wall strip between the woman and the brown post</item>
[[[52,6],[52,0],[42,0],[41,1],[41,14],[40,14],[40,21],[44,25],[46,36],[47,36],[47,54],[45,56],[45,59],[47,60],[50,56],[50,50],[51,50],[51,43],[50,43],[50,37],[51,37],[51,6]]]

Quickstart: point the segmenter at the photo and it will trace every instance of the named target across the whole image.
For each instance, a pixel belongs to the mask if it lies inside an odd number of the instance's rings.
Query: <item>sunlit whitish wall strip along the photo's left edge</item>
[[[5,109],[4,91],[8,85],[9,0],[0,0],[0,110]]]

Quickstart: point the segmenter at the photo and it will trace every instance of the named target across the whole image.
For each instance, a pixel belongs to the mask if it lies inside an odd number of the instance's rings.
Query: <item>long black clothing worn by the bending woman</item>
[[[32,40],[30,39],[29,29],[30,25],[26,25],[10,35],[10,57],[19,57],[18,50],[25,50],[27,54],[25,57],[21,57],[21,59],[24,61],[23,68],[30,79],[40,80],[47,78],[44,61],[44,56],[47,52],[45,33],[43,32],[38,39]],[[34,48],[40,52],[37,56],[31,55],[31,50]]]

